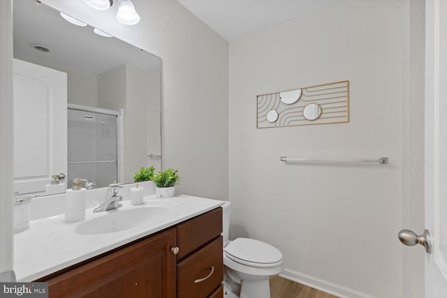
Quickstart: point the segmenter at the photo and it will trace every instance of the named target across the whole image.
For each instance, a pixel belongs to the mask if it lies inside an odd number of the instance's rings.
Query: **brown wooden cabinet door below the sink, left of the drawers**
[[[176,297],[175,228],[48,280],[49,297]]]

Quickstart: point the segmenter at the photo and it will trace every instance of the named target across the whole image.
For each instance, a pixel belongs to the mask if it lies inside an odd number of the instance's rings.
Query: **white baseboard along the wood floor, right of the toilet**
[[[340,298],[375,298],[374,296],[346,288],[342,285],[337,285],[336,283],[331,283],[329,281],[323,281],[320,278],[303,274],[292,269],[285,268],[279,276],[286,278],[302,285],[307,285],[316,290],[321,290],[329,294],[335,295]]]

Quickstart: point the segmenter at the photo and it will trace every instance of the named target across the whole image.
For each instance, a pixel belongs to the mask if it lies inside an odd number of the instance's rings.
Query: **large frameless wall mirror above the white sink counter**
[[[133,174],[143,166],[161,170],[161,59],[105,32],[94,32],[87,24],[72,24],[59,11],[38,1],[16,0],[13,4],[14,58],[31,67],[66,74],[66,99],[48,96],[48,102],[44,99],[40,104],[37,87],[22,92],[29,102],[17,106],[15,98],[16,191],[54,193],[45,191],[45,186],[52,175],[64,172],[58,169],[66,169],[68,188],[71,178],[88,179],[105,187],[115,181],[133,182]],[[29,77],[22,77],[29,81]],[[15,90],[22,90],[21,86],[15,82]],[[54,112],[50,104],[57,100],[64,101],[61,112]],[[80,111],[73,117],[68,114],[68,131],[73,121],[81,129],[77,133],[54,131],[64,128],[65,123],[52,115],[64,115],[67,107]],[[108,114],[112,117],[103,117]],[[36,128],[40,125],[37,122],[47,128]],[[91,126],[89,131],[87,126]],[[87,139],[87,135],[96,139]],[[114,142],[113,137],[117,139]],[[68,144],[68,154],[61,152],[66,149],[52,147],[57,142],[60,148]],[[54,167],[55,156],[61,167]],[[60,162],[60,156],[68,156],[68,160]],[[40,167],[34,169],[34,164]],[[117,173],[111,174],[115,167]]]

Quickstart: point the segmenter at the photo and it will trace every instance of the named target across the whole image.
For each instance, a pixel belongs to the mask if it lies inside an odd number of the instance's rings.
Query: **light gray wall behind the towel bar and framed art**
[[[277,246],[290,278],[349,297],[402,297],[410,109],[423,126],[408,99],[410,87],[423,90],[423,77],[409,84],[409,17],[409,1],[342,1],[230,42],[230,238]],[[256,129],[256,95],[340,80],[350,81],[349,123]],[[390,164],[286,165],[281,155]]]

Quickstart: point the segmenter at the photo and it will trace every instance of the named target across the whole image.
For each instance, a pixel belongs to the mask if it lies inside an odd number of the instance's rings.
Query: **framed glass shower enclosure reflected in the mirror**
[[[116,183],[118,177],[119,114],[112,110],[68,105],[67,188],[73,178],[96,187]]]

